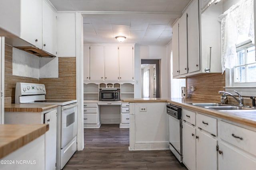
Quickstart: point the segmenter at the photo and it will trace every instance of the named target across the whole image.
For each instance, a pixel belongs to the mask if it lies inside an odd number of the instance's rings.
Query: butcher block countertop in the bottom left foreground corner
[[[48,130],[48,124],[0,125],[0,158],[44,135]]]

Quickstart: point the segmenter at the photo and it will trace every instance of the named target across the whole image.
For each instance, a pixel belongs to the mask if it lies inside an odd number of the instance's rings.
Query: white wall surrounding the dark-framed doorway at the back
[[[160,59],[160,97],[170,97],[170,57],[166,46],[135,45],[134,47],[134,98],[141,98],[141,59]]]

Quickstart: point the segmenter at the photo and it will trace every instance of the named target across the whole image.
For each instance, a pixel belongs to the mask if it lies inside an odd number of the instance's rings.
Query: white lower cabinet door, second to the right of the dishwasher
[[[196,169],[217,170],[217,140],[196,130]]]

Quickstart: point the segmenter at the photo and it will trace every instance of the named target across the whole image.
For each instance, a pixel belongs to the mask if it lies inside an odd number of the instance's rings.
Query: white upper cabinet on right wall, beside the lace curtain
[[[201,10],[201,1],[193,0],[173,25],[173,77],[185,77],[205,72],[221,72],[222,2]]]

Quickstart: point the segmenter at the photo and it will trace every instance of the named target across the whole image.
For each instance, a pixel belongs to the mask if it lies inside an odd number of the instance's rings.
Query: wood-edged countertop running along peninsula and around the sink
[[[230,121],[241,123],[243,125],[248,125],[251,127],[256,127],[256,109],[254,111],[217,111],[214,109],[207,109],[204,107],[194,106],[190,103],[216,103],[210,100],[198,100],[193,98],[138,98],[138,99],[122,99],[122,102],[168,102],[180,107],[186,107],[187,109],[192,109],[194,111],[205,113],[207,115],[213,115],[216,117],[224,118]],[[220,103],[220,102],[219,102]]]

